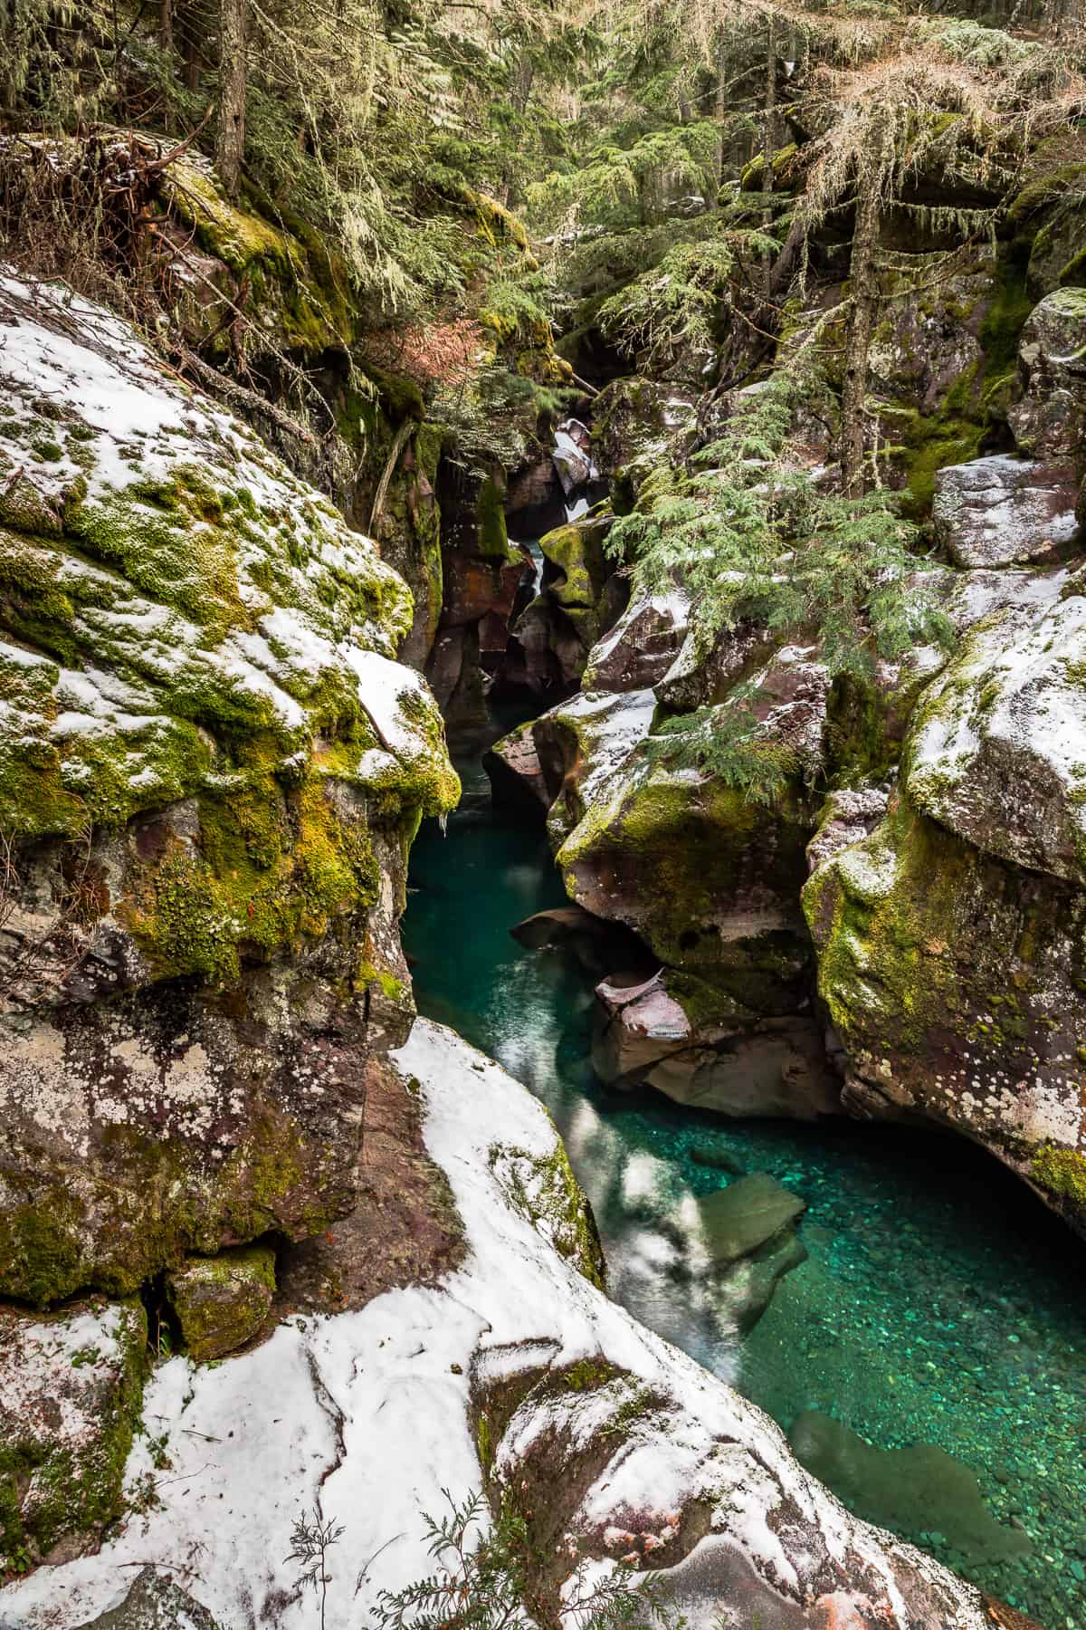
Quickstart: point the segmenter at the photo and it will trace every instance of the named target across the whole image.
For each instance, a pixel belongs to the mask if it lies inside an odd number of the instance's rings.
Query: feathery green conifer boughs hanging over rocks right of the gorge
[[[606,546],[633,562],[638,593],[684,584],[705,644],[755,623],[816,637],[830,673],[861,673],[949,626],[892,496],[827,491],[791,448],[793,411],[817,391],[811,344],[741,394],[697,468],[656,466]]]

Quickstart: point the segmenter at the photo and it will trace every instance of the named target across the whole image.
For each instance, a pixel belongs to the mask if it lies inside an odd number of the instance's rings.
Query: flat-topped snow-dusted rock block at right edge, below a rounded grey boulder
[[[946,465],[935,476],[935,535],[956,566],[1049,564],[1078,536],[1073,463],[1006,455]]]

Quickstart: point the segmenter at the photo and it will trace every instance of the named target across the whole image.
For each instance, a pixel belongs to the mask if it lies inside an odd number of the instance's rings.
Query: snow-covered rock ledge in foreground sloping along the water
[[[565,1159],[523,1087],[422,1020],[397,1064],[425,1100],[464,1265],[360,1312],[288,1319],[215,1368],[160,1366],[145,1400],[160,1459],[145,1438],[127,1469],[130,1485],[153,1478],[156,1501],[98,1555],[8,1586],[3,1630],[75,1627],[148,1558],[221,1623],[301,1630],[313,1602],[282,1558],[295,1518],[314,1508],[344,1524],[327,1625],[345,1630],[379,1589],[428,1571],[422,1513],[487,1475],[545,1544],[552,1584],[578,1552],[598,1570],[627,1557],[668,1570],[695,1627],[731,1602],[801,1630],[822,1623],[829,1601],[865,1630],[982,1630],[970,1586],[852,1518],[760,1410],[554,1249],[549,1209],[558,1190],[568,1203],[563,1185],[511,1203],[495,1143],[539,1169]]]

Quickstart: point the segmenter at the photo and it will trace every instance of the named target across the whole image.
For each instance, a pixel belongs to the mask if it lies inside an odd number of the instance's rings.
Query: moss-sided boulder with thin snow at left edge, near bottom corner
[[[145,1363],[137,1301],[0,1307],[0,1578],[94,1547],[120,1516]]]

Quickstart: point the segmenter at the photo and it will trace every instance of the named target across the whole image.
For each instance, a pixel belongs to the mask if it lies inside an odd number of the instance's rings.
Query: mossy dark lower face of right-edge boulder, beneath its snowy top
[[[865,1117],[956,1128],[1079,1231],[1050,1154],[1086,1148],[1086,893],[1008,864],[897,795],[811,875],[819,994]]]

